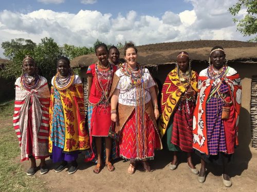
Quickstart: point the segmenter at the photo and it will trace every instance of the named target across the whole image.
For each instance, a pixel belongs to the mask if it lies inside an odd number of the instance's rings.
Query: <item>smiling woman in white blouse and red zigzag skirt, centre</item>
[[[162,148],[155,82],[149,70],[139,66],[132,42],[124,46],[124,54],[126,62],[116,71],[110,93],[111,119],[116,122],[120,157],[130,160],[128,173],[135,173],[137,161],[149,172],[148,160],[154,158],[155,148]]]

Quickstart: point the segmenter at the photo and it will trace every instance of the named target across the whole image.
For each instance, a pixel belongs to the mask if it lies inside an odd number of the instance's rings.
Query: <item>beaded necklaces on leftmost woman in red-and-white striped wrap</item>
[[[27,73],[22,75],[21,77],[21,86],[23,89],[27,91],[36,90],[39,88],[41,78],[38,74],[34,76],[29,76]]]

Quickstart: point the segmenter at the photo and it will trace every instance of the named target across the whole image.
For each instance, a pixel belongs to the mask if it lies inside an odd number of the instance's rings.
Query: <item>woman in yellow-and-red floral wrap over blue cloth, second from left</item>
[[[55,172],[61,172],[70,161],[68,174],[74,174],[79,152],[89,148],[89,137],[84,127],[82,82],[69,63],[67,57],[60,57],[51,81],[49,152],[54,163],[61,162]]]

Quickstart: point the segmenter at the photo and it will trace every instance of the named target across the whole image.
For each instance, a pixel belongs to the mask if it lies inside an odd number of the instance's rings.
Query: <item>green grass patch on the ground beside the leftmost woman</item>
[[[0,105],[0,191],[47,191],[44,182],[36,176],[27,176],[20,163],[15,158],[21,150],[12,121],[9,125],[1,122],[11,119],[13,101]]]

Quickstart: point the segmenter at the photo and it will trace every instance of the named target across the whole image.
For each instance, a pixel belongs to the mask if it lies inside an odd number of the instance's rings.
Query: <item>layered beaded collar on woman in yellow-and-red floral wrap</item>
[[[67,76],[62,76],[59,72],[54,76],[53,85],[59,90],[63,91],[71,86],[74,82],[75,75],[73,71],[69,71]]]

